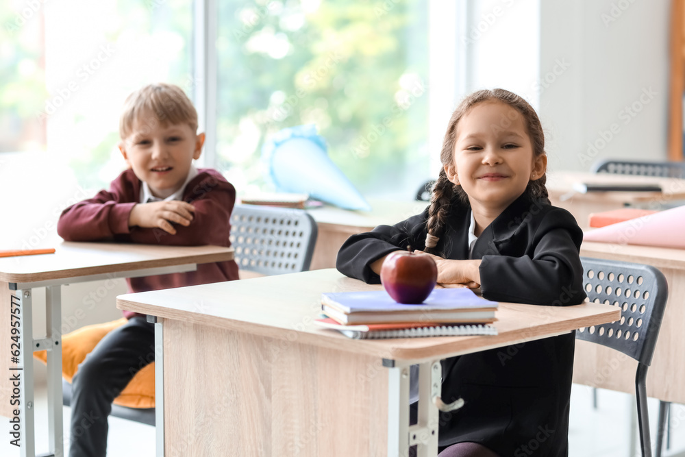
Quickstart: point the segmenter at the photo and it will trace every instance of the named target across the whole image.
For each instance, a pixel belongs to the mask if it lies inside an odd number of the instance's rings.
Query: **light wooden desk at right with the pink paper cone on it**
[[[653,265],[669,284],[669,301],[647,373],[647,395],[685,403],[685,249],[584,242],[580,255]],[[635,393],[636,360],[608,347],[577,341],[573,382]]]

